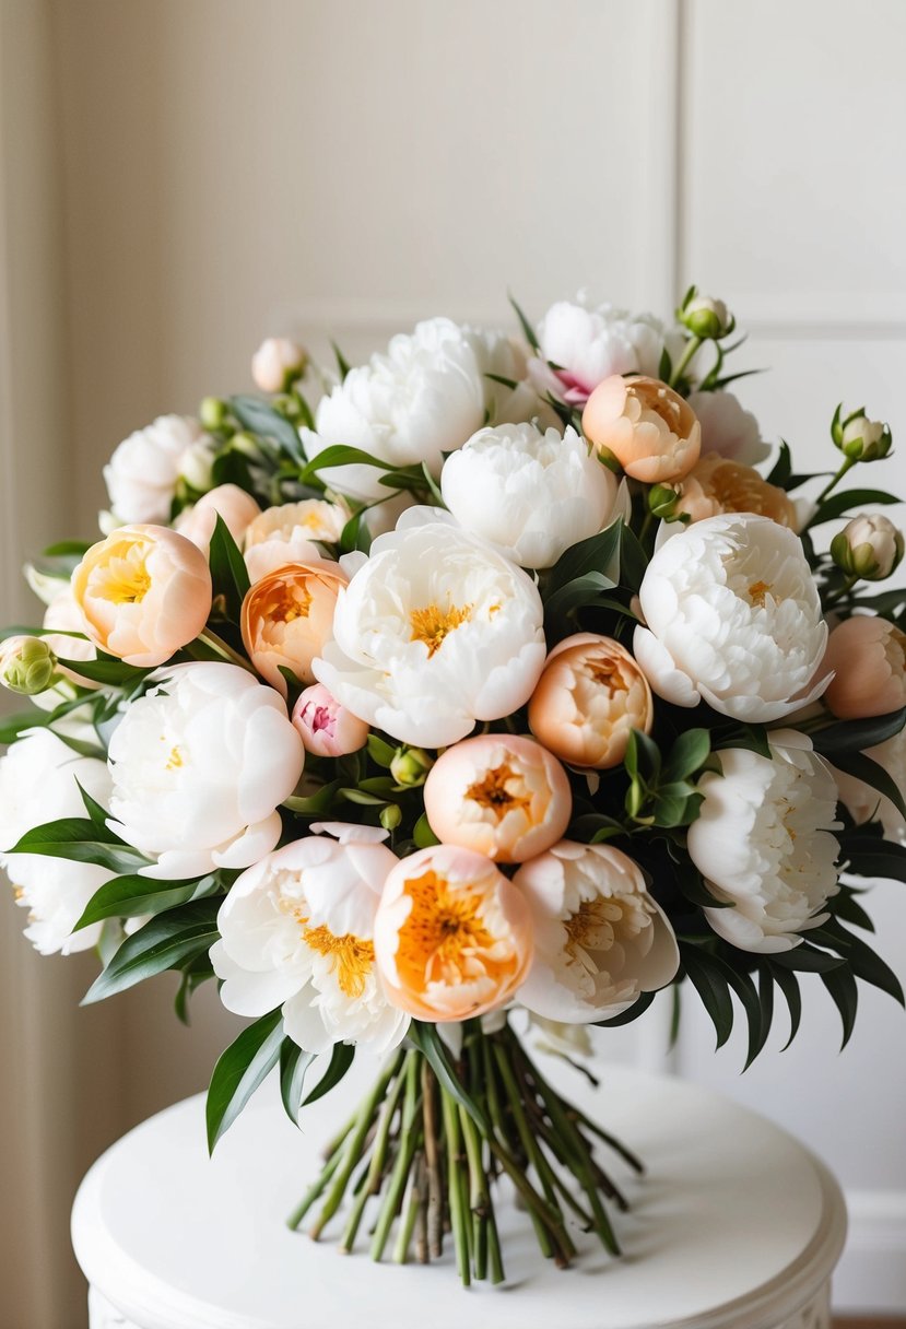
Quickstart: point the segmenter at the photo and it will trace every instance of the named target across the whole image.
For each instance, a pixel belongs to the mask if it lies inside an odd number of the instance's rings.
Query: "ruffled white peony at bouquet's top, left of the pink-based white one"
[[[391,340],[385,355],[349,369],[321,397],[315,429],[303,429],[310,459],[335,444],[361,448],[392,466],[421,465],[438,476],[444,453],[460,448],[485,419],[485,352],[449,319],[418,323]],[[325,484],[355,498],[387,497],[375,466],[329,466]]]

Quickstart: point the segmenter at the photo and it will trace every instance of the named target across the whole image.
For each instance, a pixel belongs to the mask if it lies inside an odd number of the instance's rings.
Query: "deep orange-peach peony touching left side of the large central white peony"
[[[288,563],[256,581],[242,602],[242,639],[271,687],[287,695],[280,666],[314,683],[311,662],[333,635],[336,597],[347,577],[339,563]]]

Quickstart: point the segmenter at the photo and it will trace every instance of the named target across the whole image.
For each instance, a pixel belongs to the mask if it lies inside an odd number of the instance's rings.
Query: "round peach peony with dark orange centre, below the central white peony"
[[[534,739],[486,734],[438,756],[425,781],[425,812],[444,844],[523,863],[561,839],[573,811],[570,781]]]

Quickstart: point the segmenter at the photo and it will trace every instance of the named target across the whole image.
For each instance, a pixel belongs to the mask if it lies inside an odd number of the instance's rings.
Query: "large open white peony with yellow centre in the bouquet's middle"
[[[393,738],[446,747],[527,702],[545,663],[531,578],[446,522],[380,536],[340,590],[315,678]]]

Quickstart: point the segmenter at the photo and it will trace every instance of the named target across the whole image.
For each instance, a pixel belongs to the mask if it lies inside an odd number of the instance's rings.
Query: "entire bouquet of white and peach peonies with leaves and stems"
[[[683,979],[748,1061],[802,973],[845,1038],[857,979],[903,999],[860,934],[906,880],[906,591],[867,585],[903,538],[840,488],[890,431],[838,408],[836,469],[764,476],[721,302],[517,314],[336,372],[266,342],[260,395],[120,444],[105,538],[27,569],[46,613],[0,654],[27,936],[97,948],[88,1002],[173,970],[187,1019],[217,978],[251,1022],[211,1148],[272,1070],[298,1120],[384,1054],[291,1223],[452,1235],[464,1282],[503,1278],[507,1192],[558,1264],[618,1252],[640,1164],[539,1041],[581,1058]]]

